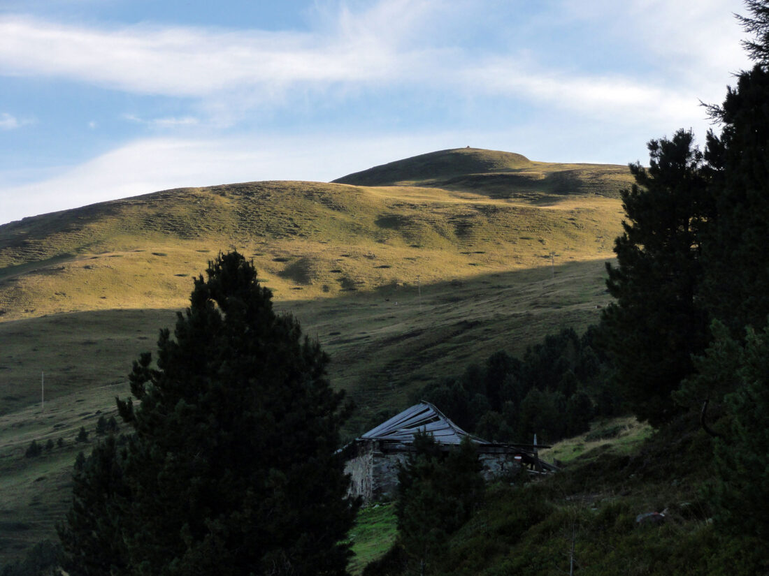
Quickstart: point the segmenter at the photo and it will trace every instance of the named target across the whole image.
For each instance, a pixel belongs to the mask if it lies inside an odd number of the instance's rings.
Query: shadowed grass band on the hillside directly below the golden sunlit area
[[[588,261],[556,266],[554,275],[548,268],[493,273],[276,306],[294,313],[331,355],[331,382],[358,404],[355,428],[382,406],[405,407],[414,389],[498,349],[522,356],[548,333],[583,329],[607,302],[602,263]],[[174,322],[175,310],[128,309],[0,323],[0,415],[39,402],[41,372],[48,399],[105,385],[127,393],[131,362],[154,351],[158,329]]]

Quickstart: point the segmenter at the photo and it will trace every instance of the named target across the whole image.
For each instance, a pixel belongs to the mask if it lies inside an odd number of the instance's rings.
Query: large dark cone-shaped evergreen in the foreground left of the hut
[[[122,573],[345,574],[357,505],[337,449],[350,406],[327,362],[251,263],[210,263],[174,336],[161,330],[157,365],[134,363],[140,403],[118,401],[133,429]]]

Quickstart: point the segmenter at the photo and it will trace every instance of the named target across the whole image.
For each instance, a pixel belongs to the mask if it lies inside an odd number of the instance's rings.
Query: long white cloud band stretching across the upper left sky
[[[178,97],[383,78],[392,68],[387,36],[355,31],[326,37],[150,25],[100,29],[6,16],[0,17],[0,72]]]

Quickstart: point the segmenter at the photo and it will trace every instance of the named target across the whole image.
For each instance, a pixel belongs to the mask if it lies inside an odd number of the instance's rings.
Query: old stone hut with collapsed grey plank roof
[[[394,498],[398,491],[398,464],[405,462],[413,451],[417,432],[433,435],[435,442],[446,450],[469,437],[478,449],[483,465],[481,474],[486,480],[515,474],[521,468],[533,474],[557,469],[538,458],[538,448],[549,446],[488,442],[464,432],[430,402],[420,402],[345,447],[345,472],[351,475],[351,494],[361,496],[365,503]]]

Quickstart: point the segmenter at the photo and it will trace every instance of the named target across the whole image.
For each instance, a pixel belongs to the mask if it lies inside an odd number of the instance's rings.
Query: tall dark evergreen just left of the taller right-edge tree
[[[711,214],[703,156],[691,132],[648,144],[650,167],[631,164],[636,184],[623,190],[628,220],[607,264],[616,303],[604,310],[604,343],[616,382],[639,419],[660,425],[680,408],[671,399],[707,343],[701,237]]]

